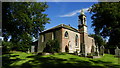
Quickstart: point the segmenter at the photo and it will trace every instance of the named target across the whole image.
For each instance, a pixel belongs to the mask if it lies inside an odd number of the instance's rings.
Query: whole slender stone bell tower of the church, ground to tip
[[[86,15],[84,11],[81,10],[80,15],[78,16],[78,31],[80,33],[80,46],[81,46],[81,55],[87,56],[87,25],[86,25]]]

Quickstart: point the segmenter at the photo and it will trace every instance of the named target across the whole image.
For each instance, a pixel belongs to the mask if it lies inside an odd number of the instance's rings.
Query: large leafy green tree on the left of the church
[[[4,41],[14,43],[17,47],[28,46],[32,38],[38,38],[45,24],[49,23],[47,14],[43,12],[48,5],[43,2],[3,2],[2,3],[2,35]],[[22,44],[22,45],[18,45]]]

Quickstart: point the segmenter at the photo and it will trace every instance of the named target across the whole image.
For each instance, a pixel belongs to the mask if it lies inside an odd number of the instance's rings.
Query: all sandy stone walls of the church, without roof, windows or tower
[[[65,32],[68,32],[68,38],[65,38]],[[69,53],[74,53],[76,51],[81,51],[81,43],[83,43],[83,34],[71,31],[69,29],[61,28],[56,30],[51,30],[49,32],[44,32],[40,34],[38,40],[38,52],[43,52],[46,47],[46,43],[52,40],[52,34],[55,33],[55,38],[59,41],[60,51],[66,52],[65,47],[68,47]],[[44,42],[42,42],[42,35],[45,36]],[[78,35],[78,46],[76,46],[75,37]],[[92,37],[89,37],[87,33],[84,33],[85,51],[91,53],[92,46],[95,46],[95,41]]]

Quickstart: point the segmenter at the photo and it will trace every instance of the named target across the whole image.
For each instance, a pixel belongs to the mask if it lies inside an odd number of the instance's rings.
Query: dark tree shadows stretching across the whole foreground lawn
[[[10,55],[3,57],[3,68],[119,68],[118,65],[114,65],[112,62],[103,62],[101,60],[84,61],[76,58],[62,59],[39,55],[28,56],[27,58],[33,58],[34,60],[29,60],[20,66],[10,66],[11,63],[22,60],[20,58],[11,60],[10,57]],[[93,64],[102,64],[103,66]]]

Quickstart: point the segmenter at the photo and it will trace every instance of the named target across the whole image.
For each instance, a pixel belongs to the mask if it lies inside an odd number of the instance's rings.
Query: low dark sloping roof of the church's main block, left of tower
[[[59,28],[65,28],[65,29],[69,29],[69,30],[74,31],[74,32],[78,32],[77,29],[75,29],[75,28],[73,28],[73,27],[71,27],[71,26],[69,26],[69,25],[60,24],[60,25],[58,25],[58,26],[55,26],[55,27],[50,28],[50,29],[48,29],[48,30],[45,30],[45,31],[43,31],[43,32],[41,32],[41,33],[48,32],[48,31],[55,30],[55,29],[59,29]]]

